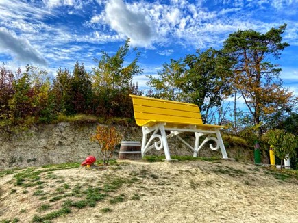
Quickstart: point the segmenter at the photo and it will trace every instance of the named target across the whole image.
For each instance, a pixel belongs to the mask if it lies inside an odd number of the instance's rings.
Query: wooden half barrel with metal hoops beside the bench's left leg
[[[119,150],[119,159],[142,159],[140,142],[122,141]]]

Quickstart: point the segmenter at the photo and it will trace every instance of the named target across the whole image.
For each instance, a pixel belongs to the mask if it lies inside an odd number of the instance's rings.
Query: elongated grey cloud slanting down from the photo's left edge
[[[0,48],[12,53],[19,61],[47,65],[45,57],[32,47],[27,39],[16,36],[14,32],[4,27],[0,27]]]

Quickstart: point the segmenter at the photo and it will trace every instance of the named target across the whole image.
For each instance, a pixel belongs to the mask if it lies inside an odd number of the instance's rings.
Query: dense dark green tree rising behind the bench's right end
[[[197,55],[186,55],[186,72],[181,83],[185,101],[195,103],[206,122],[212,107],[222,107],[225,96],[231,94],[231,62],[221,51],[208,49]]]

